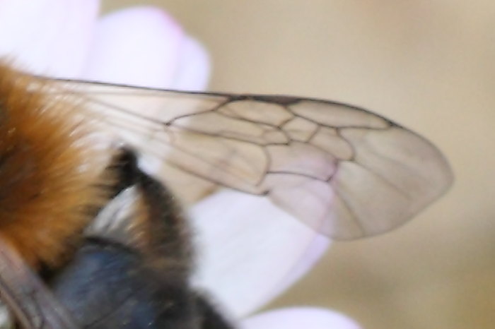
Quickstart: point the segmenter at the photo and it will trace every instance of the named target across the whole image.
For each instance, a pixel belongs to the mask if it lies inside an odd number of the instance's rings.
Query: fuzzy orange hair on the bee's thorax
[[[93,147],[81,104],[48,90],[0,63],[0,234],[33,266],[56,265],[91,220],[88,208],[105,202],[96,183],[107,156]]]

